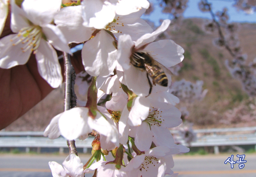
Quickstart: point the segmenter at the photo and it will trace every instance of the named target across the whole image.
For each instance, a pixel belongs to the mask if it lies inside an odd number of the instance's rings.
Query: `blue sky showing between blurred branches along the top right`
[[[169,15],[161,13],[161,8],[157,6],[159,0],[149,1],[155,5],[155,11],[152,12],[150,15],[144,16],[143,18],[150,19],[151,21],[155,22],[156,26],[159,26],[159,20],[169,18]],[[202,13],[198,9],[198,2],[200,2],[200,0],[189,0],[188,7],[184,12],[185,18],[210,18],[209,13]],[[243,11],[237,11],[237,9],[232,6],[234,4],[234,0],[208,0],[208,2],[212,3],[212,8],[214,12],[221,11],[224,7],[227,7],[228,15],[230,16],[229,22],[256,23],[256,13],[252,15],[247,15]]]

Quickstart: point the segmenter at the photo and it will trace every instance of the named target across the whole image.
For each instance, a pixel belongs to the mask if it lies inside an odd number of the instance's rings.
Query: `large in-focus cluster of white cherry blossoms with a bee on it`
[[[174,144],[169,131],[182,120],[174,107],[179,99],[169,92],[167,68],[183,60],[184,50],[172,40],[155,41],[171,21],[163,20],[153,31],[140,18],[149,7],[147,0],[16,3],[10,2],[15,34],[0,40],[1,68],[25,64],[33,52],[41,76],[59,87],[56,50],[69,53],[68,44],[84,43],[82,62],[88,77],[81,74],[87,79],[78,81],[87,90],[85,106],[55,116],[44,135],[67,140],[93,135],[93,155],[83,167],[72,153],[63,167],[49,162],[53,176],[80,177],[91,170],[98,177],[173,175],[172,155],[189,149]],[[111,99],[99,106],[104,95]]]

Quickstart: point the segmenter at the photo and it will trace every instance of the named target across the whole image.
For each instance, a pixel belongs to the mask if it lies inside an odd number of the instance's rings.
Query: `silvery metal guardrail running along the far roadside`
[[[219,153],[219,146],[234,146],[234,145],[251,145],[254,144],[256,148],[256,127],[243,128],[227,128],[227,129],[196,129],[194,133],[197,134],[197,140],[187,144],[181,136],[179,131],[171,130],[174,134],[175,140],[184,146],[203,147],[214,146],[215,154]],[[91,148],[93,137],[85,140],[76,140],[76,147],[83,148],[86,152],[87,148]],[[67,147],[67,141],[60,136],[54,140],[43,137],[43,132],[38,131],[0,131],[0,147],[26,147],[28,152],[29,147],[58,147],[60,152]]]

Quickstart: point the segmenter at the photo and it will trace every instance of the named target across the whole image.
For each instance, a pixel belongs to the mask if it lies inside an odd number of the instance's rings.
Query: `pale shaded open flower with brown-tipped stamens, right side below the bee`
[[[168,128],[182,123],[181,112],[174,106],[169,109],[150,109],[148,117],[140,126],[130,127],[129,135],[134,137],[140,151],[147,151],[152,141],[157,146],[174,146],[174,139]]]

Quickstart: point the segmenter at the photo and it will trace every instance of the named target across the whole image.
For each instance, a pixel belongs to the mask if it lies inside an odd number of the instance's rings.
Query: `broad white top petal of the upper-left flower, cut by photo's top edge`
[[[61,0],[25,0],[22,3],[26,17],[39,26],[51,23],[60,6]]]

